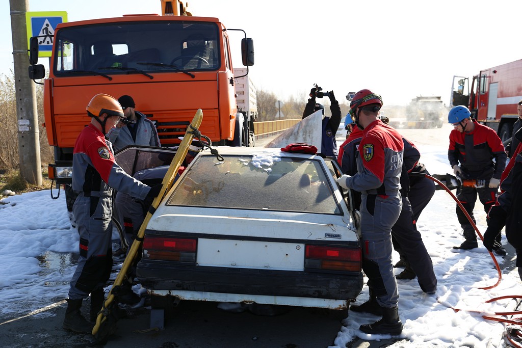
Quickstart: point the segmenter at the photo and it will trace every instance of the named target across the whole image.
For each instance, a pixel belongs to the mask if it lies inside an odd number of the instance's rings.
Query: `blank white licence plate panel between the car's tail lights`
[[[274,270],[304,269],[304,244],[198,239],[197,265]]]

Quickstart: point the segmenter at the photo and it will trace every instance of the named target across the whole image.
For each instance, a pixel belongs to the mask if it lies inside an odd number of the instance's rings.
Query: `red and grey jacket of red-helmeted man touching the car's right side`
[[[397,195],[404,151],[402,136],[380,119],[362,132],[357,158],[359,172],[347,179],[347,186],[367,195]]]

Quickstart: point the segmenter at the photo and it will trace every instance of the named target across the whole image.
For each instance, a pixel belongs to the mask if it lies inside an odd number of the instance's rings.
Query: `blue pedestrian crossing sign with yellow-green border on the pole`
[[[66,11],[26,12],[27,44],[29,39],[39,37],[39,57],[50,57],[53,49],[54,30],[60,23],[67,22]]]

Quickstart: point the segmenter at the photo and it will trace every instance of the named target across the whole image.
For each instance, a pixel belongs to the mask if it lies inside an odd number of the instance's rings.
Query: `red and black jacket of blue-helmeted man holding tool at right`
[[[470,132],[454,129],[449,134],[449,164],[460,163],[466,179],[500,179],[507,159],[504,145],[493,129],[474,119],[473,124]]]

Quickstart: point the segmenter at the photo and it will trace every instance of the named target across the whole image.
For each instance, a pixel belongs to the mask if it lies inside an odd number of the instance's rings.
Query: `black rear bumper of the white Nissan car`
[[[353,301],[363,276],[326,272],[227,267],[172,266],[141,260],[137,278],[150,290],[192,291],[267,296],[294,296]]]

